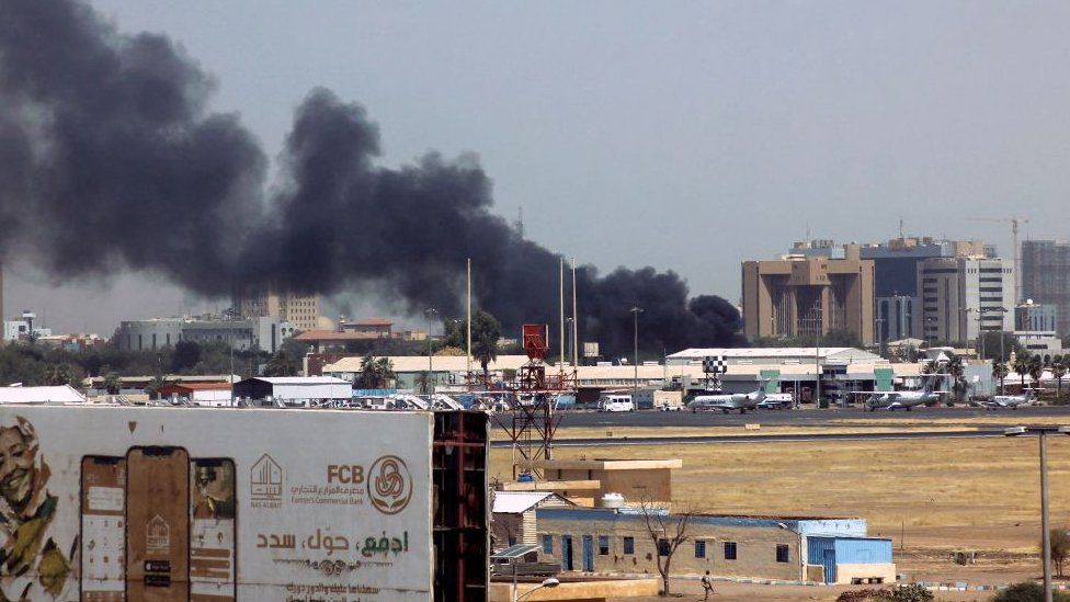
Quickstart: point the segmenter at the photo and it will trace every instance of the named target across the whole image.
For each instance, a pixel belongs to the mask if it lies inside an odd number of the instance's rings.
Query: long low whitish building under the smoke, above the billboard
[[[235,350],[260,349],[275,353],[295,333],[295,327],[275,317],[229,320],[223,317],[152,318],[125,320],[115,331],[122,351],[153,351],[179,341],[229,343]]]

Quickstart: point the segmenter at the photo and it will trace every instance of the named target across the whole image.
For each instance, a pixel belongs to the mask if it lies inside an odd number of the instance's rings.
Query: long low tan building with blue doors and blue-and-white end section
[[[649,519],[672,514],[649,511]],[[539,561],[562,570],[657,573],[654,542],[642,511],[613,509],[536,510]],[[891,539],[868,537],[864,519],[810,516],[692,515],[687,541],[672,557],[674,575],[851,583],[896,580]]]

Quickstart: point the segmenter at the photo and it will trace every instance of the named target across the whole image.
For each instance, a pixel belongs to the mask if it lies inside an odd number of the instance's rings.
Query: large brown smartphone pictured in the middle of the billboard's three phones
[[[190,598],[190,454],[135,447],[126,454],[126,599]]]

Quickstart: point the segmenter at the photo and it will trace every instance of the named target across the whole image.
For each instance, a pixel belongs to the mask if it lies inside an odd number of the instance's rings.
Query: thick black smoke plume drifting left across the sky
[[[169,38],[123,35],[68,0],[0,0],[0,253],[57,280],[162,273],[209,296],[265,287],[374,291],[407,311],[459,316],[464,265],[478,305],[509,329],[557,319],[559,255],[492,213],[471,156],[376,166],[365,111],[314,90],[298,107],[282,182],[213,80]],[[649,351],[735,342],[739,314],[688,302],[673,272],[578,273],[581,340]],[[514,331],[514,330],[511,330]]]

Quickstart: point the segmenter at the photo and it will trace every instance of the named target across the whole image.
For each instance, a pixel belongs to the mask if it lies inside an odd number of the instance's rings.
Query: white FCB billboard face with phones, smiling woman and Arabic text
[[[0,600],[430,600],[432,420],[0,407]]]

